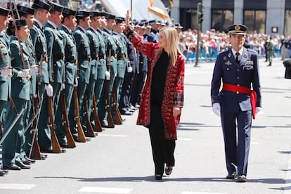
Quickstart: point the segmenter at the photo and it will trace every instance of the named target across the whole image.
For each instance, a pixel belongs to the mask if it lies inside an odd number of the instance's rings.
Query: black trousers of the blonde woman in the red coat
[[[164,122],[160,105],[150,105],[150,142],[155,163],[155,174],[164,174],[164,164],[174,167],[176,141],[164,139]]]

